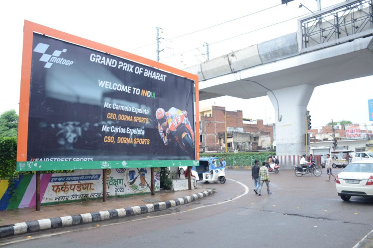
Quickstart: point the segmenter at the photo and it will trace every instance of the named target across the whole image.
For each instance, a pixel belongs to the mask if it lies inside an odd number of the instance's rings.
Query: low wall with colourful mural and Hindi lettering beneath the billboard
[[[155,168],[155,190],[160,188],[160,168]],[[106,170],[106,195],[120,196],[150,192],[150,168]],[[35,207],[36,175],[0,180],[0,210]],[[102,197],[102,170],[41,174],[41,205]]]

